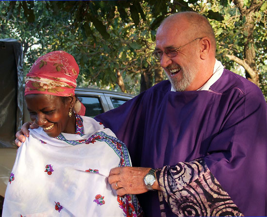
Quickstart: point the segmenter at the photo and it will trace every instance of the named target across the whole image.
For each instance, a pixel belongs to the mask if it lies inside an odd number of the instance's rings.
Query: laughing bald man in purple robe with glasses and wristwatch
[[[134,166],[112,169],[109,183],[118,195],[139,194],[147,217],[266,216],[261,90],[216,60],[213,29],[194,12],[162,22],[153,55],[168,81],[96,117]]]

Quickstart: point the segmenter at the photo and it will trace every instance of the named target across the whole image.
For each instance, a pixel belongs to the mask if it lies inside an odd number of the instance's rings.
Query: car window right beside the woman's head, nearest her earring
[[[81,99],[83,105],[85,106],[85,116],[95,117],[104,112],[98,97],[78,96],[78,98]]]

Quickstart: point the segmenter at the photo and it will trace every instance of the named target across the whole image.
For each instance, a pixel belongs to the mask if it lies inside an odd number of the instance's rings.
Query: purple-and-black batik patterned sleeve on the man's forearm
[[[203,159],[159,168],[156,175],[162,217],[166,216],[163,200],[179,217],[244,216]]]

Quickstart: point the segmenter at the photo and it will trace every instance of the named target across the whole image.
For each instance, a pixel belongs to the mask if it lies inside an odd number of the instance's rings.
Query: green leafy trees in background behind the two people
[[[264,0],[0,1],[0,35],[21,41],[25,74],[40,55],[65,50],[80,66],[80,86],[137,94],[166,79],[151,51],[160,22],[179,11],[208,17],[217,59],[267,97]]]

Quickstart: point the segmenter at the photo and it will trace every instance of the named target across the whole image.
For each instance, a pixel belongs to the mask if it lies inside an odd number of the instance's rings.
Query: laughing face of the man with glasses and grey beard
[[[163,25],[156,35],[156,50],[171,50],[192,41],[194,36],[188,36],[185,31],[188,30],[184,24],[173,26],[167,23]],[[196,43],[194,41],[184,46],[178,50],[175,57],[168,57],[166,53],[163,53],[160,60],[161,67],[164,68],[169,81],[177,91],[187,90],[198,73]]]

